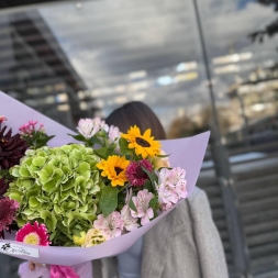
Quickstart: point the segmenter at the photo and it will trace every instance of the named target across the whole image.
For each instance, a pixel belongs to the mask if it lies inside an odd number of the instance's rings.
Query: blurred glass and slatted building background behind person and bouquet
[[[212,131],[198,186],[231,278],[278,277],[278,1],[0,1],[0,90],[75,130],[131,100]],[[1,100],[0,100],[1,101]],[[0,255],[0,277],[19,260]]]

